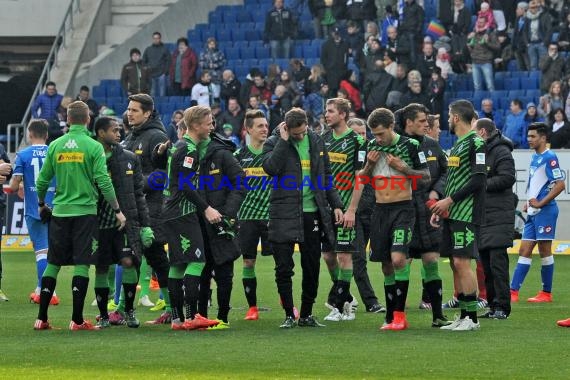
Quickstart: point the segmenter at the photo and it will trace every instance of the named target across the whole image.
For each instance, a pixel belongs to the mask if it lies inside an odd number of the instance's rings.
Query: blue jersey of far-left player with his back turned
[[[13,175],[24,177],[24,208],[25,215],[39,219],[38,193],[36,192],[36,179],[47,156],[47,145],[31,145],[16,154],[16,166]],[[50,207],[55,194],[55,178],[52,180],[46,193],[45,203]]]

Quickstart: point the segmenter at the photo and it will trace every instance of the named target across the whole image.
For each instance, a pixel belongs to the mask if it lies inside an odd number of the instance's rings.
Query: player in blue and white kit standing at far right
[[[560,169],[556,153],[546,146],[548,126],[533,123],[528,127],[528,145],[534,149],[529,169],[527,186],[528,201],[523,211],[528,217],[524,226],[519,261],[511,281],[511,302],[518,302],[519,289],[532,263],[532,250],[538,243],[538,253],[542,261],[540,275],[542,290],[528,302],[552,302],[552,278],[554,275],[554,256],[552,240],[556,231],[558,206],[555,198],[564,191],[566,185],[564,172]]]

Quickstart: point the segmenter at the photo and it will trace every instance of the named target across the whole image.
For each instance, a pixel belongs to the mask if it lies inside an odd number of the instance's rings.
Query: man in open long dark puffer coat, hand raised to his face
[[[319,286],[321,240],[334,244],[333,221],[342,222],[342,202],[332,186],[324,141],[308,129],[300,108],[285,114],[263,146],[263,170],[273,177],[269,200],[269,241],[275,260],[275,282],[285,320],[281,328],[295,327],[293,306],[293,249],[299,243],[303,282],[299,326],[321,327],[312,315]]]

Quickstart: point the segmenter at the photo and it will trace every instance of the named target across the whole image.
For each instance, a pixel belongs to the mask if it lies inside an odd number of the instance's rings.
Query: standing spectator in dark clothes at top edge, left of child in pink
[[[465,6],[464,0],[453,2],[453,22],[446,25],[451,36],[451,62],[456,73],[465,72],[469,52],[467,51],[467,35],[471,31],[471,10]]]

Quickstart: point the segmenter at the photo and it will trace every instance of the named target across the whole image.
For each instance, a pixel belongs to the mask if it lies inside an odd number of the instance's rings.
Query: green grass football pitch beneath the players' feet
[[[241,284],[241,261],[236,262],[231,329],[171,331],[170,326],[138,329],[113,326],[103,331],[67,329],[71,316],[72,268],[58,277],[59,306],[51,306],[50,321],[61,330],[34,331],[38,306],[28,302],[35,287],[32,253],[2,254],[3,289],[9,302],[0,303],[0,379],[568,379],[570,329],[556,320],[570,317],[570,257],[556,257],[554,302],[528,304],[540,287],[540,261],[535,256],[521,302],[508,320],[481,320],[475,332],[441,331],[430,327],[431,312],[418,309],[419,263],[412,266],[406,331],[379,331],[384,314],[365,313],[360,302],[356,320],[324,322],[324,328],[281,330],[283,312],[273,279],[273,260],[257,265],[258,321],[244,321],[246,301]],[[511,273],[516,256],[511,255]],[[296,255],[295,303],[300,302],[300,264]],[[452,295],[451,270],[440,262],[444,301]],[[369,263],[371,280],[384,303],[379,264]],[[93,269],[85,316],[94,320]],[[321,265],[319,297],[314,314],[323,322],[330,287]],[[157,293],[151,298],[155,300]],[[448,311],[452,318],[454,311]],[[210,317],[215,317],[214,307]],[[158,316],[139,307],[142,321]]]

